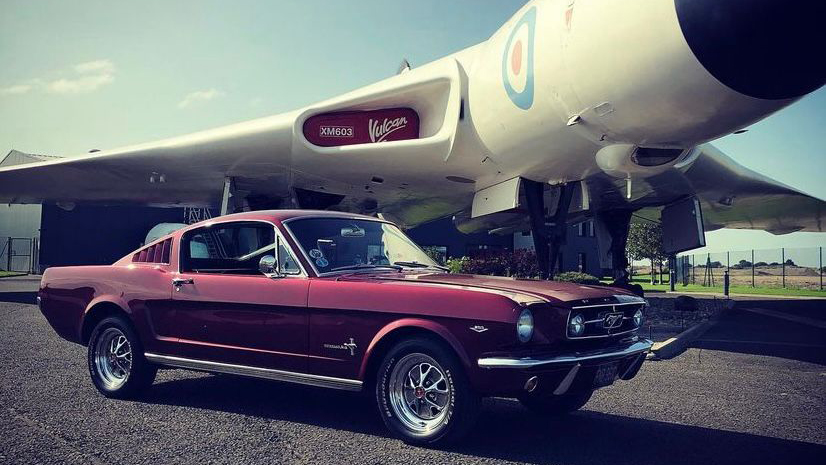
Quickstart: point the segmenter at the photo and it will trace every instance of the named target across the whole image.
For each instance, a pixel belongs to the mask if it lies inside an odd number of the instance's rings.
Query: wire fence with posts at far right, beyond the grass
[[[731,286],[823,290],[823,247],[737,250],[677,257],[677,282]]]

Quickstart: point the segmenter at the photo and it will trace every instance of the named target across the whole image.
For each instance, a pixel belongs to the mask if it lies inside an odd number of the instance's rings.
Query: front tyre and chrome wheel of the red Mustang
[[[428,338],[390,349],[377,373],[376,400],[387,428],[414,445],[460,439],[481,406],[453,350]]]

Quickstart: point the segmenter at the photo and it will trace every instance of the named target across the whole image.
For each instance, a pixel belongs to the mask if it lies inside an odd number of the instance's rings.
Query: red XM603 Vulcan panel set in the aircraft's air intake
[[[307,118],[304,137],[322,147],[418,139],[419,115],[411,108],[322,113]]]

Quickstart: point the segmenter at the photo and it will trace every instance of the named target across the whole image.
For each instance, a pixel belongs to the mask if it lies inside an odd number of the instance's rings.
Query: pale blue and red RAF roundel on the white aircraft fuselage
[[[525,12],[513,27],[502,57],[502,82],[505,91],[511,101],[523,110],[533,105],[535,26],[536,7],[533,7]]]

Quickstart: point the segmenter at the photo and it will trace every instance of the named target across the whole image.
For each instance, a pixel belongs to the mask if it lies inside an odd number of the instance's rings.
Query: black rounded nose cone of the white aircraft
[[[674,0],[683,35],[717,80],[751,97],[803,96],[826,82],[823,0]]]

